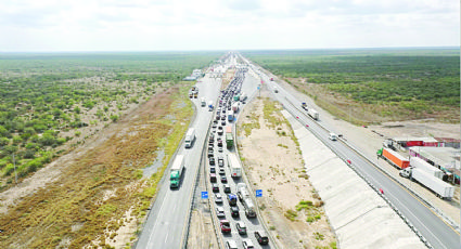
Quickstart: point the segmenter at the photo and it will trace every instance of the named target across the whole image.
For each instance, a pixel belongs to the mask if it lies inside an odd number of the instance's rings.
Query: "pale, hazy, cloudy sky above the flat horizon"
[[[0,1],[0,52],[459,45],[458,0]]]

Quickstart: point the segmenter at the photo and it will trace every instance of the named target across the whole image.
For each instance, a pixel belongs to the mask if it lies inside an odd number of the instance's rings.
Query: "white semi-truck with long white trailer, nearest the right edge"
[[[441,199],[450,199],[454,195],[453,186],[434,176],[433,174],[427,173],[423,169],[408,167],[404,170],[400,170],[399,174],[400,176],[411,178],[412,180],[418,181],[425,187],[433,191]]]

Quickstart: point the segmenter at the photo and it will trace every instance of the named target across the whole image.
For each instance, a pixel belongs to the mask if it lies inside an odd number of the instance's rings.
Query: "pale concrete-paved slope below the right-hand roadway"
[[[309,181],[324,201],[340,248],[426,248],[394,210],[286,110]]]

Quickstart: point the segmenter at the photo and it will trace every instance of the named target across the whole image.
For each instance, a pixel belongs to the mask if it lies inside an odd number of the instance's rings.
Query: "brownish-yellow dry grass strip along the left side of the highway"
[[[185,92],[174,87],[155,95],[85,146],[1,193],[0,247],[129,246],[163,175],[161,170],[142,179],[141,169],[158,148],[169,155],[169,147],[177,147],[192,113]]]

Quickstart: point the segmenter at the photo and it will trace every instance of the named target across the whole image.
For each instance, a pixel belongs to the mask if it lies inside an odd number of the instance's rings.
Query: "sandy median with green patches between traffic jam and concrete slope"
[[[280,109],[269,99],[257,99],[238,124],[246,175],[253,188],[265,193],[258,198],[264,220],[282,248],[336,248],[323,202],[308,181],[299,145]]]

